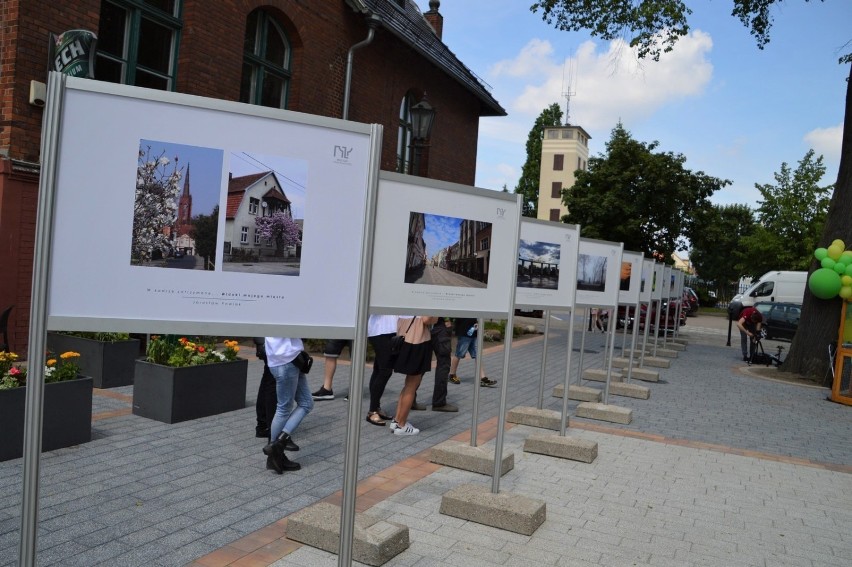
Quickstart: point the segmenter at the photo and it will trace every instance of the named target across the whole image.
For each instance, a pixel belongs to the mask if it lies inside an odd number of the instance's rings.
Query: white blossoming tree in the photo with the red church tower
[[[165,151],[152,156],[150,146],[139,148],[130,244],[130,256],[136,262],[150,262],[155,250],[171,247],[165,229],[174,224],[177,215],[175,198],[181,178],[177,161],[175,158],[172,164]]]

